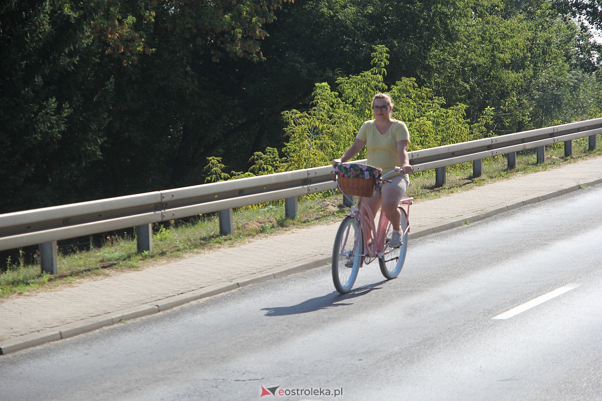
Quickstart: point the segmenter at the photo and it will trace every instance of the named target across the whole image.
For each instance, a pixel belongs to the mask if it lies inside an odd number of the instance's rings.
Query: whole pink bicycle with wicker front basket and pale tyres
[[[371,197],[374,189],[396,171],[400,169],[380,176],[379,168],[368,165],[345,163],[335,167],[340,191],[344,195],[358,195],[359,199],[341,222],[332,249],[332,281],[341,294],[352,289],[363,263],[368,265],[378,259],[380,272],[387,280],[396,278],[402,271],[408,251],[409,207],[413,198],[400,200],[402,245],[398,248],[389,246],[393,228],[385,213],[380,213],[378,224],[374,225],[370,209],[362,205],[362,197]]]

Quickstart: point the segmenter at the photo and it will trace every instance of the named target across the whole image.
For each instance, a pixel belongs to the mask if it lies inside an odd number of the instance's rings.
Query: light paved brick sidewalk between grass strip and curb
[[[602,183],[602,158],[417,201],[411,206],[410,238],[597,183]],[[303,228],[75,287],[8,299],[0,303],[0,355],[323,266],[330,259],[337,227],[338,223]]]

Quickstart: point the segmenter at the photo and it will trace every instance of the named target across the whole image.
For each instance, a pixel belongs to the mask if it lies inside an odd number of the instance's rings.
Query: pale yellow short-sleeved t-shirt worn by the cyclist
[[[397,152],[397,141],[409,141],[410,133],[403,121],[393,120],[387,132],[380,133],[374,120],[368,120],[362,124],[355,138],[366,142],[367,163],[382,168],[382,173],[386,174],[395,166],[402,165]]]

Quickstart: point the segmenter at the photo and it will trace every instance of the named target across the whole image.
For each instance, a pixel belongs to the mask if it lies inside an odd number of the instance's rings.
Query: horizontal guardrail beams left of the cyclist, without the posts
[[[0,250],[296,198],[315,192],[312,181],[315,173],[296,170],[5,213],[0,215]]]

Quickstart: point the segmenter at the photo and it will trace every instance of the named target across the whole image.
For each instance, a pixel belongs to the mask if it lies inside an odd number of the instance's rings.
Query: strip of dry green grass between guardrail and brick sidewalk
[[[434,171],[414,174],[407,195],[417,201],[429,200],[602,155],[600,146],[592,152],[587,150],[587,146],[587,138],[573,141],[573,156],[570,158],[564,158],[562,144],[547,147],[547,159],[543,164],[535,163],[535,150],[523,152],[517,155],[517,167],[512,170],[507,170],[506,159],[498,156],[483,163],[482,177],[472,177],[471,163],[448,167],[446,182],[441,188],[434,186]],[[17,262],[8,262],[6,271],[0,274],[0,299],[19,293],[70,286],[83,280],[141,269],[153,263],[168,262],[223,246],[236,246],[257,236],[335,222],[347,211],[341,201],[341,195],[335,191],[300,198],[297,218],[294,220],[284,217],[284,202],[245,207],[235,211],[234,233],[227,236],[220,236],[217,216],[172,221],[169,225],[154,227],[152,254],[138,254],[133,236],[107,237],[105,244],[98,248],[60,254],[57,275],[42,274],[37,263],[28,265],[20,258]]]

